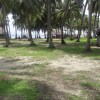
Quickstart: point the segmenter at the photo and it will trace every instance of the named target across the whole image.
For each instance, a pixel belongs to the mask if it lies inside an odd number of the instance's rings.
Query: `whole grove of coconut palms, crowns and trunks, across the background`
[[[49,47],[53,48],[53,29],[57,32],[61,31],[61,44],[66,44],[64,30],[70,30],[70,40],[73,40],[73,30],[78,30],[76,38],[79,42],[81,31],[88,29],[86,50],[90,51],[91,31],[96,37],[95,31],[99,28],[100,1],[86,0],[85,4],[83,2],[84,0],[0,0],[0,16],[3,16],[0,17],[0,20],[5,34],[6,46],[8,47],[10,43],[7,16],[12,13],[16,38],[18,37],[18,28],[26,30],[30,45],[36,45],[32,38],[32,31],[38,34],[40,30],[44,33],[47,32],[45,37]],[[87,6],[88,16],[85,15]]]

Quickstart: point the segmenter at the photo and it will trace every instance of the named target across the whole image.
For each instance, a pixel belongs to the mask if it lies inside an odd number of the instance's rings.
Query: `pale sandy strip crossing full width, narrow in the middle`
[[[75,71],[90,71],[100,68],[99,60],[92,60],[89,58],[82,58],[80,56],[68,56],[51,61],[34,60],[32,57],[15,57],[3,58],[0,57],[0,70],[9,70],[11,68],[19,68],[23,66],[30,66],[33,64],[49,63],[50,68],[65,69],[67,72]]]

